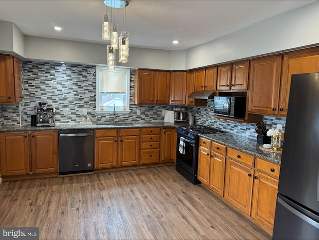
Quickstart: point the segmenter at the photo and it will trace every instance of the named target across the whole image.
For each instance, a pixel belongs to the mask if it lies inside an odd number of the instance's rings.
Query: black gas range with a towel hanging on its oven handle
[[[177,127],[176,171],[192,184],[200,183],[197,179],[198,133],[222,133],[223,131],[201,125]],[[180,149],[183,144],[183,149]]]

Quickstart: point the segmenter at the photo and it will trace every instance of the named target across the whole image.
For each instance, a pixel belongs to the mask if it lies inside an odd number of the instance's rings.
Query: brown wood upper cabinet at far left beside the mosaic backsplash
[[[0,54],[0,103],[14,104],[22,101],[20,59]]]

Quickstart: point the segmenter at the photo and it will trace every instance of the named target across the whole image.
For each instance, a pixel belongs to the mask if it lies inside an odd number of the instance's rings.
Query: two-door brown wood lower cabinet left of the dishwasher
[[[57,131],[1,133],[0,162],[2,176],[57,172]]]

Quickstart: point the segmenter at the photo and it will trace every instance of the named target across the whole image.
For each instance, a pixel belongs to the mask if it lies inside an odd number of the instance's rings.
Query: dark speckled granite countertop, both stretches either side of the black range
[[[66,130],[66,129],[106,129],[106,128],[128,128],[128,127],[163,127],[172,126],[178,127],[182,125],[188,125],[187,123],[170,123],[170,122],[118,122],[116,124],[109,123],[93,123],[93,124],[80,124],[80,123],[56,123],[55,126],[31,126],[30,124],[24,124],[20,126],[2,126],[1,131],[37,131],[37,130]],[[232,147],[234,149],[247,152],[249,154],[267,159],[269,161],[280,163],[281,153],[266,152],[259,149],[261,144],[257,143],[255,139],[243,137],[233,133],[209,133],[199,134],[200,136],[209,138],[215,142],[221,143],[225,146]]]

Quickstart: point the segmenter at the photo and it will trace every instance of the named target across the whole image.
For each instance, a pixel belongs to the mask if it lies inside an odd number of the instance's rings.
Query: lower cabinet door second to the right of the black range
[[[225,163],[225,156],[210,152],[209,187],[222,197],[224,196]]]

